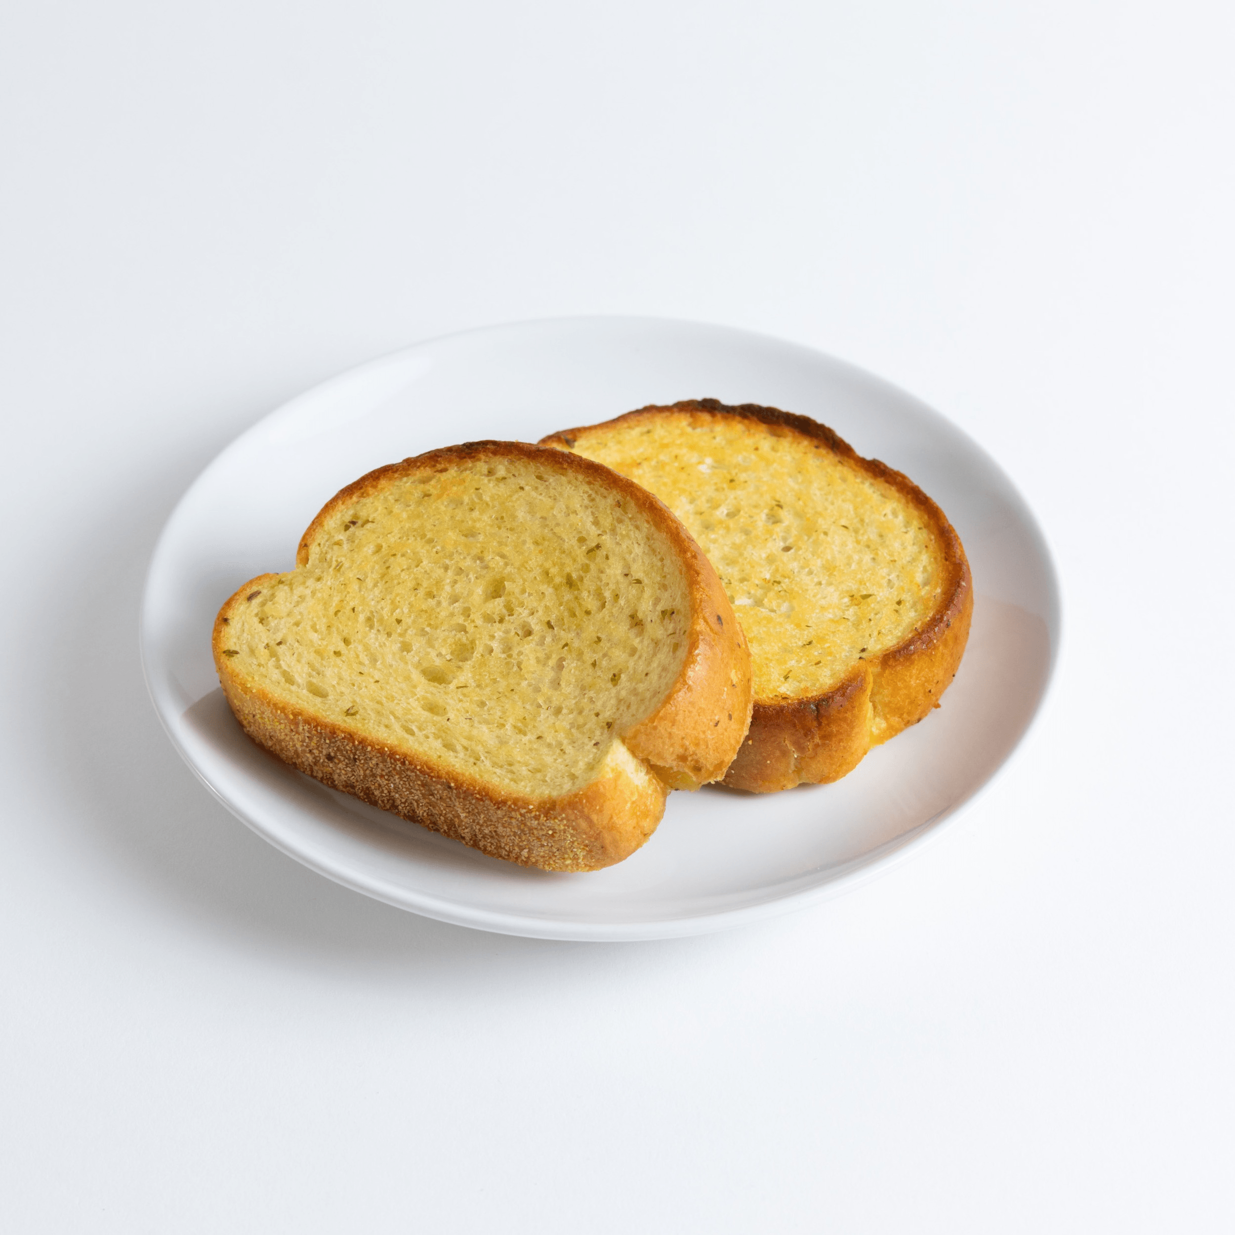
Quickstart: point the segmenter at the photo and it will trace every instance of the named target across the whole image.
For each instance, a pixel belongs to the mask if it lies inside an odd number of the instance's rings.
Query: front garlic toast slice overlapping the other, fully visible
[[[227,701],[325,784],[493,857],[593,871],[724,776],[750,652],[672,514],[588,459],[472,442],[332,498],[215,621]]]

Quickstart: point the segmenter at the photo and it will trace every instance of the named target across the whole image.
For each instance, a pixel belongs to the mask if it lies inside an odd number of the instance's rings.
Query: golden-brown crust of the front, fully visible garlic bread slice
[[[658,708],[615,740],[597,777],[546,798],[498,790],[431,758],[352,732],[298,709],[231,668],[224,655],[231,618],[274,574],[258,576],[224,604],[215,620],[215,667],[246,734],[324,784],[451,836],[492,857],[546,871],[595,871],[620,862],[656,830],[671,788],[720,779],[750,725],[750,651],[725,590],[677,517],[645,489],[600,463],[522,442],[466,442],[377,468],[340,490],[309,525],[296,566],[333,514],[394,479],[447,471],[479,457],[519,457],[571,471],[629,499],[678,552],[690,595],[682,671]],[[569,461],[569,462],[564,462]]]

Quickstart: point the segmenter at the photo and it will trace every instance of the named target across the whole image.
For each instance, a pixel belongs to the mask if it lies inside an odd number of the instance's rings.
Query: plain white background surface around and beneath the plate
[[[6,1229],[1230,1229],[1228,7],[0,21]],[[280,856],[163,736],[137,601],[212,454],[576,312],[851,359],[1040,515],[1046,714],[873,885],[483,935]]]

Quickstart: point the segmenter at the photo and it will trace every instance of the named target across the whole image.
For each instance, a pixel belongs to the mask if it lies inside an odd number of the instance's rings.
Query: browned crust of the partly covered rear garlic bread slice
[[[778,408],[687,399],[551,433],[541,438],[541,445],[571,452],[588,432],[682,412],[740,416],[778,433],[797,433],[821,442],[855,469],[894,489],[935,534],[944,572],[935,610],[895,647],[878,656],[860,657],[853,671],[824,694],[756,699],[750,732],[724,778],[726,787],[750,793],[774,793],[803,783],[839,781],[857,767],[872,746],[918,724],[937,708],[940,697],[956,677],[973,614],[973,580],[965,548],[944,511],[906,475],[878,459],[863,458],[826,425]]]

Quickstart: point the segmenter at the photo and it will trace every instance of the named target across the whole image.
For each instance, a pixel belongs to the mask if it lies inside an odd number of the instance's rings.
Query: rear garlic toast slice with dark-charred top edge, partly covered
[[[726,785],[836,781],[939,706],[968,637],[969,566],[944,513],[899,472],[806,416],[715,399],[542,445],[650,489],[716,567],[755,682]]]

